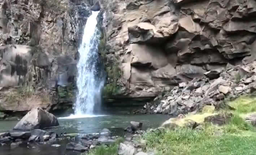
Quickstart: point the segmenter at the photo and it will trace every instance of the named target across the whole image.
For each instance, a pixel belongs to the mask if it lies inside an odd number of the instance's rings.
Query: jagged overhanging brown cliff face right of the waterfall
[[[101,0],[101,5],[109,102],[155,97],[228,63],[255,59],[255,0]]]

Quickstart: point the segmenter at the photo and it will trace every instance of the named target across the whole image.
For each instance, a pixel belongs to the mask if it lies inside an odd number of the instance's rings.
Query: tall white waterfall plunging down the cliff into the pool
[[[75,115],[91,115],[94,106],[101,103],[101,90],[104,86],[103,68],[100,67],[98,45],[100,32],[97,29],[97,15],[92,12],[84,27],[82,43],[79,47],[77,64],[77,100],[74,105]]]

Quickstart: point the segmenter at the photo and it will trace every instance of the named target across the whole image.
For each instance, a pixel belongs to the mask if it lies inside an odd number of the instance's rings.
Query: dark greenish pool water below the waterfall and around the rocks
[[[126,128],[130,121],[139,121],[143,123],[143,130],[147,128],[159,127],[170,116],[167,115],[101,115],[87,118],[63,118],[58,117],[59,126],[51,129],[57,134],[61,133],[79,133],[88,134],[96,133],[103,128],[108,128],[112,135],[123,136],[124,128]],[[18,121],[0,121],[0,132],[11,130]],[[79,152],[67,151],[66,143],[63,140],[58,142],[61,146],[58,148],[50,145],[39,145],[30,148],[18,147],[10,149],[10,147],[0,146],[0,155],[77,155]]]

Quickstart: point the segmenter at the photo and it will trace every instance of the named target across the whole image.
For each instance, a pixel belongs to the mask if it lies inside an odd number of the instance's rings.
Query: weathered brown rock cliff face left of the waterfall
[[[0,110],[65,108],[93,1],[0,0]]]

